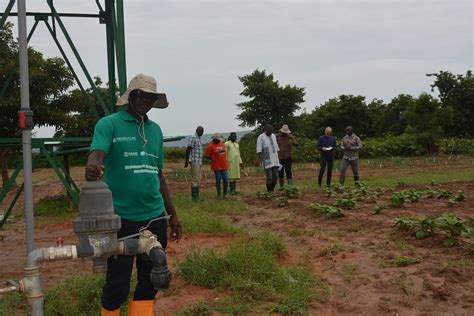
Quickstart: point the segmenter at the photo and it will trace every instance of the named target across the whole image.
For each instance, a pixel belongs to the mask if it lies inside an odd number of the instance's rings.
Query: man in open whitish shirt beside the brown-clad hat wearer
[[[280,160],[278,152],[280,148],[273,134],[273,127],[266,125],[265,130],[257,138],[257,160],[255,165],[262,162],[265,169],[267,192],[273,192],[278,181],[278,169],[280,168]]]

